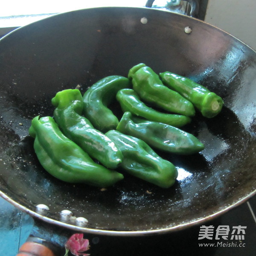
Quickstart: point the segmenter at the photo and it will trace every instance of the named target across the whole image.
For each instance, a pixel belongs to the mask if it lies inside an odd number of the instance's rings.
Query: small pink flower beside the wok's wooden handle
[[[84,251],[89,250],[89,240],[88,239],[84,239],[84,235],[83,234],[74,234],[73,236],[70,237],[70,239],[68,239],[67,243],[65,244],[65,248],[66,248],[66,254],[67,255],[68,251],[70,250],[70,252],[73,255],[76,256],[88,256],[90,254],[87,253],[83,253]]]

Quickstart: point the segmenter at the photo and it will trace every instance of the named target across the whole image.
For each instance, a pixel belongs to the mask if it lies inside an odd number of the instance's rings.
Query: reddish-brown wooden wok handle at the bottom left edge
[[[27,241],[20,247],[17,256],[55,256],[55,254],[44,244]]]

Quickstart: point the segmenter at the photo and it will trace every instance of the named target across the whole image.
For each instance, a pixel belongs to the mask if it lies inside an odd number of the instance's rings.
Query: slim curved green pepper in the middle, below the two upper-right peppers
[[[175,127],[181,127],[191,122],[189,116],[162,113],[148,107],[140,100],[140,97],[133,89],[119,90],[116,94],[116,99],[119,101],[123,112],[129,111],[133,115],[141,116],[151,121],[163,122]]]

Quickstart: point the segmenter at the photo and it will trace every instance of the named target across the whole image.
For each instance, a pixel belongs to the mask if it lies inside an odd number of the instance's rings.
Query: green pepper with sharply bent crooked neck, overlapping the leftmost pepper
[[[122,152],[105,134],[93,128],[82,116],[83,97],[78,89],[67,89],[52,98],[54,119],[65,136],[79,145],[90,157],[115,169],[122,162]]]

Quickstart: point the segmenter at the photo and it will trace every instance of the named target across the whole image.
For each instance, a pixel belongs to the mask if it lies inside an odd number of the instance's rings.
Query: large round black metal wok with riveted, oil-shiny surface
[[[187,26],[191,33],[184,32]],[[157,73],[189,77],[224,99],[218,116],[197,113],[183,128],[206,145],[204,151],[157,152],[177,166],[175,185],[160,189],[126,175],[102,191],[45,172],[28,135],[31,119],[52,116],[56,92],[79,85],[84,93],[105,76],[127,76],[140,62]],[[171,232],[227,212],[256,193],[255,70],[256,52],[237,38],[162,10],[84,9],[16,29],[0,40],[0,194],[48,224],[111,236]],[[38,204],[49,211],[37,212]],[[64,209],[73,216],[61,218]]]

